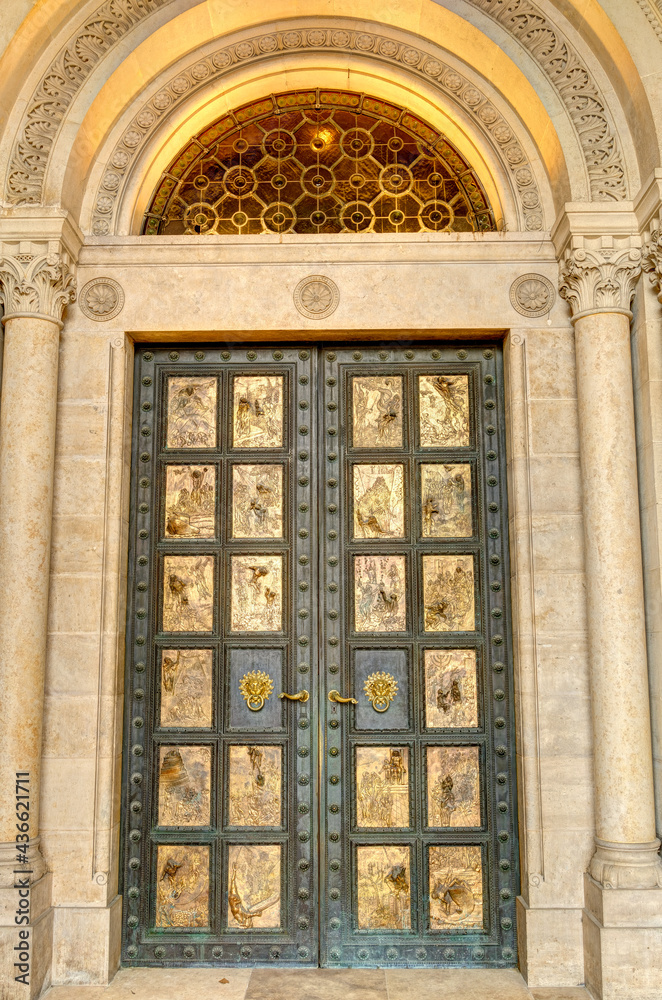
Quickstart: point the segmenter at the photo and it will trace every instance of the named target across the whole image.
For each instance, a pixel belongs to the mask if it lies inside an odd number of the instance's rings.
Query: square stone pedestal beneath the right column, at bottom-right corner
[[[662,888],[612,889],[584,876],[585,982],[597,1000],[660,1000]]]

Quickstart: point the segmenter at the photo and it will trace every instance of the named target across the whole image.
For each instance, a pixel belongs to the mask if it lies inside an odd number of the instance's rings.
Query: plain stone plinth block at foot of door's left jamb
[[[105,986],[120,964],[122,897],[108,906],[53,908],[54,986]]]

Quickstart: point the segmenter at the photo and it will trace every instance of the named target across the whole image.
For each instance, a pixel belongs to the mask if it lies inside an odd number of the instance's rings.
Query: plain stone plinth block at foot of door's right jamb
[[[581,986],[584,982],[582,911],[538,908],[517,897],[517,949],[527,986]]]

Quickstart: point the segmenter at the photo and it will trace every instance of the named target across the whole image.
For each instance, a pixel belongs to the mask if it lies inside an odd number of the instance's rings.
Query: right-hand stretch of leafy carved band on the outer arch
[[[559,92],[581,142],[593,201],[628,196],[625,166],[606,101],[579,54],[530,0],[470,0],[526,49]]]

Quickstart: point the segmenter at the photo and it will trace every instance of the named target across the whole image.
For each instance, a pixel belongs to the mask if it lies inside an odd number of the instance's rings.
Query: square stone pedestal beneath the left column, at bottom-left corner
[[[17,879],[21,876],[17,875]],[[2,1000],[33,1000],[50,986],[53,953],[52,875],[30,885],[29,897],[20,897],[20,886],[0,887],[0,982]],[[27,910],[17,909],[21,898]],[[17,977],[20,977],[17,979]]]

